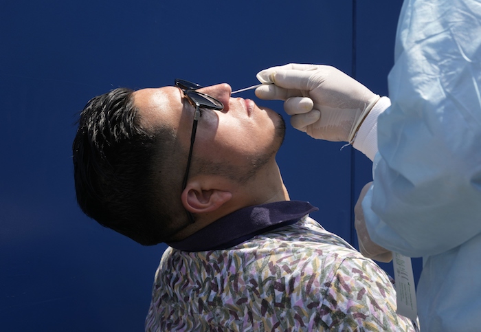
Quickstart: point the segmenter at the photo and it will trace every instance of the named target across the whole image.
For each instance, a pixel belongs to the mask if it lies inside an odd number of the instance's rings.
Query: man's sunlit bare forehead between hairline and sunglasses
[[[175,124],[179,121],[182,103],[177,87],[137,90],[133,93],[133,102],[146,129],[155,129],[159,122]]]

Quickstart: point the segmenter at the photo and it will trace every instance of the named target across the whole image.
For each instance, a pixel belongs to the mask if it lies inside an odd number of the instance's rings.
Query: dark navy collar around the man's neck
[[[317,210],[305,201],[278,201],[249,206],[227,214],[187,239],[167,244],[187,252],[227,249],[257,234],[297,223],[306,214]]]

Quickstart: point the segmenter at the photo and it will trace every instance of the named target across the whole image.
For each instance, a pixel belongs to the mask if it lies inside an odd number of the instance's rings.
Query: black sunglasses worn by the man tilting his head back
[[[192,83],[188,80],[181,80],[179,78],[176,78],[175,86],[182,90],[183,96],[185,96],[188,102],[195,107],[194,122],[192,123],[192,133],[190,134],[189,157],[187,159],[186,173],[183,175],[182,181],[183,191],[184,189],[186,189],[187,186],[187,179],[190,170],[190,160],[192,159],[192,147],[194,146],[195,133],[197,131],[197,122],[202,115],[200,109],[214,109],[215,111],[221,111],[224,108],[224,105],[219,100],[216,100],[216,98],[208,96],[205,93],[196,91],[197,89],[201,89],[202,87],[197,83]],[[194,216],[192,216],[192,213],[187,211],[187,216],[190,223],[194,223]]]

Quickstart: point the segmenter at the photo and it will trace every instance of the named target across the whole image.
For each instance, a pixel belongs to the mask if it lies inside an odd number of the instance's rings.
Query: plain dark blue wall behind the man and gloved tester
[[[76,113],[115,87],[256,84],[260,69],[334,65],[385,95],[401,0],[1,1],[0,330],[142,331],[165,245],[142,247],[76,205]],[[353,25],[354,24],[354,25]],[[263,102],[282,113],[282,102]],[[249,139],[249,137],[246,137]],[[291,128],[291,199],[355,243],[371,163]],[[416,263],[416,275],[418,274]],[[383,265],[390,272],[390,265]]]

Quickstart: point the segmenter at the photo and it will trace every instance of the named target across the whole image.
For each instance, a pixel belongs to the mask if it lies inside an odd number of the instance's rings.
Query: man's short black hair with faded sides
[[[168,126],[142,128],[133,90],[92,98],[80,113],[72,147],[78,205],[142,245],[168,241],[187,223],[177,145]]]

